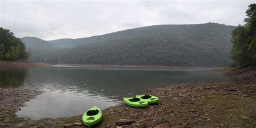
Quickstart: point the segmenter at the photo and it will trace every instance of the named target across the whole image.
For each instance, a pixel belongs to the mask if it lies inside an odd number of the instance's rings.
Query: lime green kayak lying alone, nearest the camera
[[[93,106],[84,113],[82,119],[86,126],[91,127],[102,119],[102,111],[100,111],[99,107]]]

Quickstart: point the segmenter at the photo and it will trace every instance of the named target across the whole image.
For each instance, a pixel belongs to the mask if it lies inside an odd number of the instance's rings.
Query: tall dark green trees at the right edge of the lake
[[[246,16],[246,24],[232,32],[232,66],[256,65],[256,4],[249,5]]]

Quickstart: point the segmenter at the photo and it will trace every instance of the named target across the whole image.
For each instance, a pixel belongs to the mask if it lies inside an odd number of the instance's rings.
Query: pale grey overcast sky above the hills
[[[3,1],[0,27],[17,37],[80,38],[157,24],[244,24],[255,1]]]

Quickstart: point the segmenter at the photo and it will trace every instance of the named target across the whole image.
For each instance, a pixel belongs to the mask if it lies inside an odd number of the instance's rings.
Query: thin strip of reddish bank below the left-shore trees
[[[29,67],[35,67],[35,66],[49,66],[49,64],[44,63],[29,63],[24,61],[4,61],[0,60],[0,69],[5,68],[29,68]]]

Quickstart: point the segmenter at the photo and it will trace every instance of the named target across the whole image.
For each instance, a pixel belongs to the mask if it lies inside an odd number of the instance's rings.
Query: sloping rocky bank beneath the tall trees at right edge
[[[230,68],[223,70],[224,75],[237,78],[238,83],[256,84],[256,66]]]

